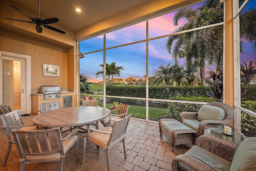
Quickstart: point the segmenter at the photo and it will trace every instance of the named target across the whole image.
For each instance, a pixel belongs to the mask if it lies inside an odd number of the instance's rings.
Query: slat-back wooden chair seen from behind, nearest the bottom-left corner
[[[79,135],[77,128],[62,138],[60,128],[43,129],[37,131],[12,130],[12,135],[20,155],[21,171],[25,163],[43,163],[61,161],[61,171],[64,171],[64,157],[66,152],[76,142],[77,159],[79,159]]]

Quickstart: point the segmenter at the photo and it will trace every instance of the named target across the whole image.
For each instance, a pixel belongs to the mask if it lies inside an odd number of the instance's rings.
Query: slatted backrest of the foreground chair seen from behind
[[[12,131],[20,155],[25,161],[54,161],[64,155],[60,128],[37,131]]]

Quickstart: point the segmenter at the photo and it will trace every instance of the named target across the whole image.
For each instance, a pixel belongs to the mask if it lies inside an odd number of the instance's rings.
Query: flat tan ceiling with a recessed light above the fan
[[[27,10],[29,14],[38,16],[38,0],[7,0],[21,10]],[[118,13],[130,10],[135,6],[149,2],[150,0],[40,0],[40,18],[58,18],[56,23],[64,28],[76,32],[101,20],[114,16]],[[1,6],[10,8],[10,6]],[[76,12],[80,8],[81,12]],[[24,16],[20,13],[21,18]],[[11,16],[4,16],[12,18]],[[25,17],[26,18],[26,17]],[[25,19],[26,20],[26,19]],[[28,19],[28,21],[30,21]]]

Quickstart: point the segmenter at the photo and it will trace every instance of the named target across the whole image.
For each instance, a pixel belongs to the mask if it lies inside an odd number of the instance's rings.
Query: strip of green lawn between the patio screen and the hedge
[[[106,108],[110,109],[111,104],[106,104]],[[100,103],[98,101],[98,106],[103,107],[103,103]],[[149,107],[148,113],[149,113],[149,120],[154,120],[155,118],[160,118],[166,115],[165,113],[166,109],[161,108],[154,108]],[[116,111],[114,111],[116,112]],[[111,112],[113,113],[113,112]],[[132,117],[146,119],[146,107],[145,106],[136,106],[136,105],[129,105],[128,114],[132,113]]]

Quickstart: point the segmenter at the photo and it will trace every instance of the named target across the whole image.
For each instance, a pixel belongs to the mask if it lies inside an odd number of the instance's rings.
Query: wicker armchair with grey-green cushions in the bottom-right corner
[[[202,135],[196,145],[172,160],[172,171],[255,171],[256,137],[246,138],[238,146]]]

